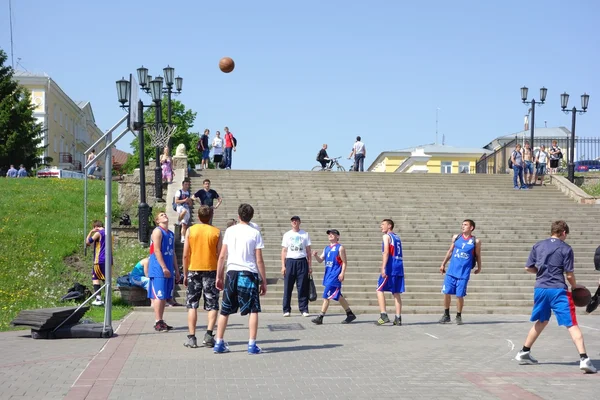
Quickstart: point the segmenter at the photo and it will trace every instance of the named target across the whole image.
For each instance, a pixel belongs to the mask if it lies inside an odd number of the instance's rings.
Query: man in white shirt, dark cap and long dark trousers
[[[292,312],[290,305],[294,283],[298,291],[298,309],[303,317],[308,313],[309,278],[312,274],[310,257],[310,237],[300,229],[300,217],[291,218],[292,229],[283,235],[281,241],[281,275],[283,275],[283,316],[289,317]]]

